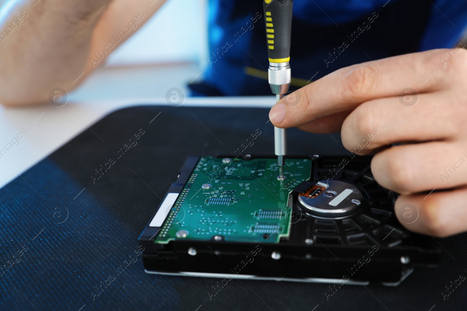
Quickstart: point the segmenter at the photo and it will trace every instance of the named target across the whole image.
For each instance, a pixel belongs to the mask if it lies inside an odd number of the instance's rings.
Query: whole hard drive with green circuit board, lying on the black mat
[[[371,158],[287,156],[279,180],[274,155],[188,157],[139,237],[144,268],[398,285],[414,267],[436,267],[439,245],[397,221],[397,194],[372,177]]]

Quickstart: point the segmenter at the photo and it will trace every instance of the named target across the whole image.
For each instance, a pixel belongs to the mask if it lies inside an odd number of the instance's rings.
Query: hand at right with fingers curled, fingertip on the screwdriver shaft
[[[467,230],[466,72],[461,48],[365,62],[289,95],[295,100],[284,97],[269,116],[281,128],[341,131],[349,151],[376,153],[375,179],[401,194],[399,221],[421,234],[453,235]],[[290,104],[297,97],[300,104]]]

